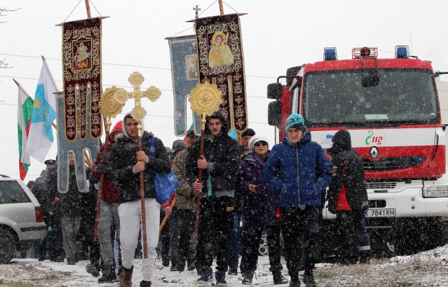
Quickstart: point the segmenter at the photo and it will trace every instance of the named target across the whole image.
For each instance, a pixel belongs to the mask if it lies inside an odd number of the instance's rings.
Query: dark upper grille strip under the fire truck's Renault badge
[[[365,172],[378,172],[389,170],[401,170],[411,168],[425,161],[425,157],[383,157],[377,161],[363,159],[363,168]]]

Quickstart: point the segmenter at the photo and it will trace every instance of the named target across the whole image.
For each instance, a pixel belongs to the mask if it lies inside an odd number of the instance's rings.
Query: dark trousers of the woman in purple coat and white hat
[[[280,263],[280,226],[267,226],[267,244],[269,246],[269,270],[271,272],[282,270],[283,266]],[[250,229],[245,231],[247,241],[245,243],[245,264],[244,270],[255,271],[258,263],[258,248],[260,246],[261,235],[263,230],[261,228]]]

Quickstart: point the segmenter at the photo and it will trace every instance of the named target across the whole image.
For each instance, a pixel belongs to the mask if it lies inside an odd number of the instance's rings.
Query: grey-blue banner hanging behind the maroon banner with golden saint
[[[198,83],[198,54],[196,36],[167,38],[170,45],[171,78],[174,95],[174,135],[183,137],[187,132],[187,97]],[[194,130],[201,135],[201,118],[194,117]]]

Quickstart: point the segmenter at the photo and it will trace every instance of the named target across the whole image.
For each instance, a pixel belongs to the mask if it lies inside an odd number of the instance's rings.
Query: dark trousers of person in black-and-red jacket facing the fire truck
[[[342,264],[356,264],[359,253],[359,210],[339,210],[338,222],[338,257]]]

